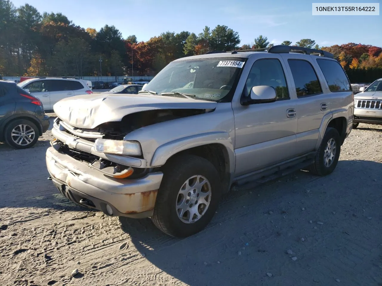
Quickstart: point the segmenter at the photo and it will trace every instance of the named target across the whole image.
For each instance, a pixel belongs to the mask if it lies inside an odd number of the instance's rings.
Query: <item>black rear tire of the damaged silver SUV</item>
[[[333,146],[335,147],[335,153],[330,154],[330,150],[327,150],[328,143],[335,143],[335,145],[331,146],[331,150]],[[310,166],[309,171],[315,175],[326,176],[332,173],[337,166],[338,159],[340,157],[341,152],[341,139],[340,134],[338,134],[337,129],[328,127],[325,130],[324,137],[322,138],[321,145],[317,150],[316,157],[314,158],[314,163]],[[331,160],[325,160],[325,153],[330,156],[333,155]],[[327,165],[326,165],[326,163]]]

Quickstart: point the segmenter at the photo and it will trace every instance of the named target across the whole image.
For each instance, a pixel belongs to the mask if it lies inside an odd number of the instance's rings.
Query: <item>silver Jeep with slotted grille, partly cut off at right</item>
[[[354,95],[353,128],[359,123],[382,124],[382,79],[377,79]]]

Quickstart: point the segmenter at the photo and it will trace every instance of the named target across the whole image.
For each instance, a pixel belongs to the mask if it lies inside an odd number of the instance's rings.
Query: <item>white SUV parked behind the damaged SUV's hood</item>
[[[74,77],[39,77],[18,86],[39,98],[45,111],[53,110],[53,105],[63,98],[93,93],[86,80]]]

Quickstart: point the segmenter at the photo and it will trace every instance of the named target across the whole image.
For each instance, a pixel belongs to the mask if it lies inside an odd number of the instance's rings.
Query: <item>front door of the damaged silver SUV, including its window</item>
[[[246,64],[250,64],[249,61]],[[243,96],[249,96],[251,88],[257,85],[274,87],[277,101],[248,106],[237,100],[232,102],[236,177],[293,158],[298,153],[296,100],[291,98],[279,55],[253,63]]]

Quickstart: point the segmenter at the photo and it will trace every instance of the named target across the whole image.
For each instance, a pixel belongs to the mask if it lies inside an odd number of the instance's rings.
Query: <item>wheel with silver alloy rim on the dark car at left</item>
[[[24,133],[22,133],[24,131]],[[20,135],[12,135],[19,133]],[[25,136],[23,137],[23,134]],[[11,121],[4,131],[5,142],[16,149],[26,149],[34,146],[39,140],[39,129],[36,124],[26,119]],[[21,140],[21,141],[20,141]]]

